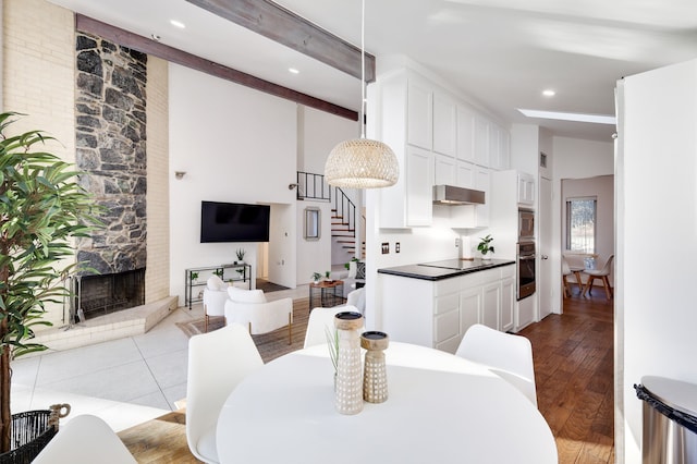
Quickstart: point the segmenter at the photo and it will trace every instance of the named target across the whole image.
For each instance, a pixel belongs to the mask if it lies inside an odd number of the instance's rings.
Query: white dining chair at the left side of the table
[[[216,426],[230,392],[264,366],[245,326],[230,323],[188,341],[186,441],[194,456],[218,463]]]

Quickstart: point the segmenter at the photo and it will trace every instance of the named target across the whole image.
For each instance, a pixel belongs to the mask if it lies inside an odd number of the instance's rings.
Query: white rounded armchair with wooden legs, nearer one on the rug
[[[289,344],[293,343],[293,298],[267,302],[264,291],[228,289],[225,302],[227,323],[237,322],[257,335],[288,326]]]

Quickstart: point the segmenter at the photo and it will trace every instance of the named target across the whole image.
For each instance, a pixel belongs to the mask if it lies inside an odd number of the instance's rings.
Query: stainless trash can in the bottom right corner
[[[644,464],[697,464],[697,386],[646,376],[634,386],[644,401]]]

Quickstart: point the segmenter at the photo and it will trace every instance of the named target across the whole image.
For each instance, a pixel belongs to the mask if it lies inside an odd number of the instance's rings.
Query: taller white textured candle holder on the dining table
[[[363,327],[363,315],[354,312],[339,313],[334,316],[334,326],[339,338],[334,404],[341,414],[358,414],[363,411],[363,373],[358,335],[358,329]]]

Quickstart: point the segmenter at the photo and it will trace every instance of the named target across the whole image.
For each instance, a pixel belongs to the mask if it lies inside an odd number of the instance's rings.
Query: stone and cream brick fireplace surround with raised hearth
[[[75,32],[73,13],[45,0],[5,0],[3,13],[4,107],[60,141],[50,149],[87,172],[81,182],[108,207],[80,259],[105,274],[145,273],[145,304],[76,323],[51,305],[53,327],[33,341],[60,351],[144,333],[179,303],[169,294],[168,63]]]

